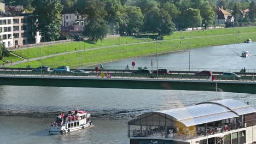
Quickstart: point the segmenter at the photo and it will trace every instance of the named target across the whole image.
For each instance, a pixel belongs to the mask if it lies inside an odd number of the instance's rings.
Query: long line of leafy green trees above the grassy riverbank
[[[235,16],[235,23],[254,22],[254,1],[238,0],[5,0],[24,5],[37,18],[45,41],[60,37],[61,14],[86,15],[83,34],[92,41],[107,34],[154,33],[160,37],[175,29],[214,25],[219,7]],[[250,9],[243,17],[240,10]]]

